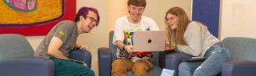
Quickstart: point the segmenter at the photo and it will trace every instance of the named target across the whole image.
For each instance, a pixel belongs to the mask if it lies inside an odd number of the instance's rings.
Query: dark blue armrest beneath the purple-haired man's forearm
[[[87,64],[87,67],[91,68],[91,52],[83,49],[77,49],[69,52],[69,58],[72,60],[80,60]]]

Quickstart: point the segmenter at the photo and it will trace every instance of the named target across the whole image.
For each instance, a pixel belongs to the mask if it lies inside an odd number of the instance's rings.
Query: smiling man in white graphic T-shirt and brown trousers
[[[129,32],[157,31],[158,25],[150,17],[142,16],[147,5],[146,0],[128,0],[129,15],[116,20],[113,44],[117,45],[117,60],[112,63],[112,76],[126,76],[132,71],[133,76],[148,76],[154,65],[151,63],[152,52],[133,52]]]

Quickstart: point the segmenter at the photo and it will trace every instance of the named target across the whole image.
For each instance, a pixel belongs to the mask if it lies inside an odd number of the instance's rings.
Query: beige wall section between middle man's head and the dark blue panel
[[[143,15],[150,16],[161,30],[165,30],[165,13],[176,6],[183,8],[187,16],[191,16],[191,0],[147,0]]]

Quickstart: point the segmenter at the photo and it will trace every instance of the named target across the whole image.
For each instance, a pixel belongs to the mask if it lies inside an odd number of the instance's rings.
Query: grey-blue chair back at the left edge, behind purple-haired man
[[[0,34],[0,61],[26,56],[34,56],[27,38],[20,34]]]

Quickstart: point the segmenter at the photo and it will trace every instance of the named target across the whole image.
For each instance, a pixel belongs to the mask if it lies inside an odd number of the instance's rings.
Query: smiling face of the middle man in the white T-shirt
[[[130,16],[133,21],[139,21],[140,17],[143,15],[145,7],[143,6],[135,6],[128,5],[128,11],[130,12]]]

